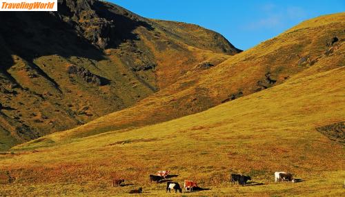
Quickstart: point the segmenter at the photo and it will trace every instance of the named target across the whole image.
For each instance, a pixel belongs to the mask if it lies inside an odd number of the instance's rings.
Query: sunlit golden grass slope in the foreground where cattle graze
[[[173,180],[192,179],[210,189],[188,196],[341,196],[344,146],[315,127],[344,121],[344,75],[340,67],[289,79],[156,125],[46,148],[34,145],[50,138],[14,147],[13,154],[0,157],[0,168],[17,180],[0,194],[126,196],[143,187],[143,196],[171,196],[165,184],[148,180],[149,174],[170,169],[179,175]],[[304,181],[274,183],[273,173],[283,170]],[[231,186],[229,172],[252,176],[253,186]],[[133,185],[112,187],[112,176]]]

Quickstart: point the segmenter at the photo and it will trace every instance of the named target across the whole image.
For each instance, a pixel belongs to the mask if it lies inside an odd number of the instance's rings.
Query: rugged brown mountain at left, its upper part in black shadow
[[[0,149],[126,109],[241,52],[217,32],[106,1],[58,10],[0,13]]]

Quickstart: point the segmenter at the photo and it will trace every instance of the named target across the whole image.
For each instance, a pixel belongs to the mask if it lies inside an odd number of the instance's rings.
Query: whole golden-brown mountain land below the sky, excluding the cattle
[[[188,196],[344,193],[345,13],[244,52],[103,1],[0,16],[1,195],[171,196],[158,170],[204,189]]]

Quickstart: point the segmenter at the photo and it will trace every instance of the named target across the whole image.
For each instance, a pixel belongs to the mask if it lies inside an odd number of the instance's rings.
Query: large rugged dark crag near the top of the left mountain
[[[114,48],[126,39],[137,39],[132,30],[139,25],[150,28],[143,18],[105,1],[61,0],[58,10],[57,17],[101,49]]]

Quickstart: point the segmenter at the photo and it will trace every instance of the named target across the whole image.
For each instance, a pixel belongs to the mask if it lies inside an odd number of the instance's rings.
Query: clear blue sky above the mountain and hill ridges
[[[345,0],[108,0],[142,17],[194,23],[247,50],[313,17],[345,12]]]

